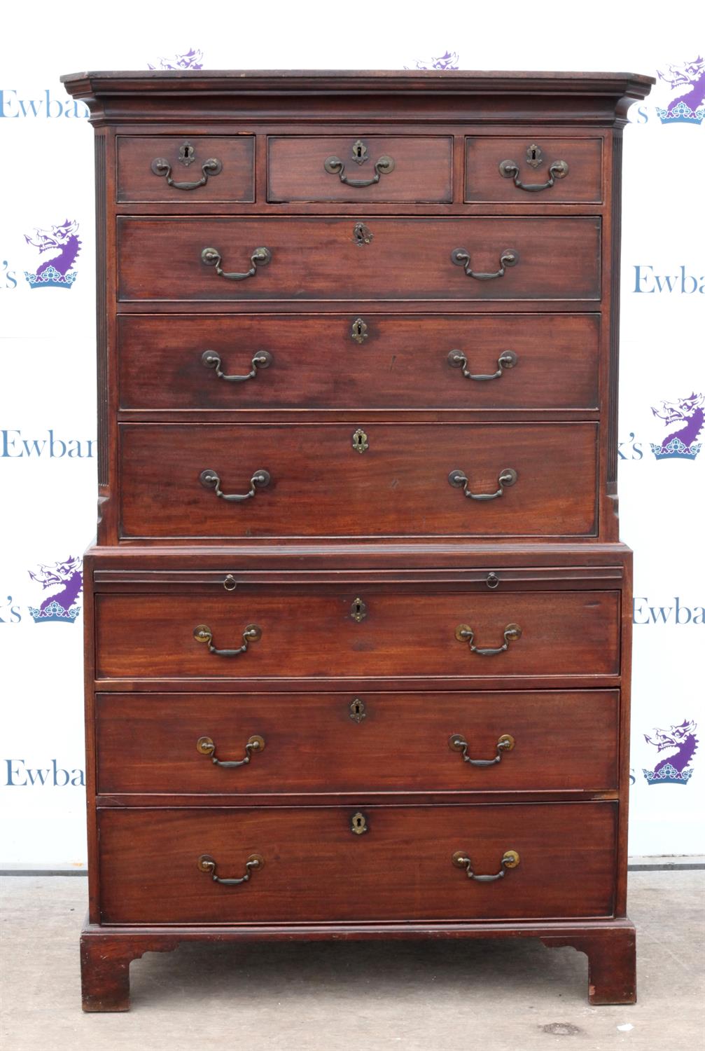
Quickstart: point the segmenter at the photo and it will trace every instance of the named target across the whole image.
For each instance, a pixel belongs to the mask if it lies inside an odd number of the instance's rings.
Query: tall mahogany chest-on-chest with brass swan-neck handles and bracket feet
[[[634,1002],[620,172],[652,81],[63,80],[96,129],[84,1008],[146,951],[327,937],[536,936]]]

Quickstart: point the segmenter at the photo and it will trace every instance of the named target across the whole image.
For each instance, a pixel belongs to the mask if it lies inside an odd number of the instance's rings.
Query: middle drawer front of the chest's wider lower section
[[[96,706],[103,794],[617,787],[617,691],[99,694]]]

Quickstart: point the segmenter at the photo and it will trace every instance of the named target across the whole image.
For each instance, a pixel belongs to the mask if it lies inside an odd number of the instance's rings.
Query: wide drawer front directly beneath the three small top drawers
[[[118,217],[119,298],[598,300],[600,220]],[[356,234],[356,229],[358,234]],[[269,252],[253,256],[260,248]],[[202,253],[206,249],[203,262]],[[466,250],[468,276],[453,263]],[[516,265],[502,268],[505,251]],[[509,259],[509,256],[503,256]],[[253,262],[253,259],[255,262]],[[220,263],[219,263],[220,260]],[[264,261],[263,261],[264,260]],[[224,273],[239,274],[227,279]],[[249,277],[242,275],[249,273]],[[355,308],[354,308],[355,309]]]

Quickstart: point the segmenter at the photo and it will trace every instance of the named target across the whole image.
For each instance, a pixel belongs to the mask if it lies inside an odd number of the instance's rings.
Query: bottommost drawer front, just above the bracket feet
[[[500,920],[613,912],[610,803],[101,810],[103,923]],[[502,868],[512,850],[514,868]],[[459,853],[478,882],[453,863]],[[250,857],[263,864],[241,879]],[[201,863],[207,867],[206,862]]]

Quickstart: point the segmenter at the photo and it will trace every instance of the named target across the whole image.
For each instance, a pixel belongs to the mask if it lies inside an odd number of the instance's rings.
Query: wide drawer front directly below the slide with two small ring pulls
[[[242,585],[96,596],[103,678],[502,679],[619,674],[619,592],[420,592]],[[234,657],[248,625],[262,633]],[[505,638],[518,624],[521,637]],[[194,630],[205,625],[210,635]],[[474,633],[473,652],[459,625]],[[458,633],[461,634],[461,633]],[[511,633],[510,633],[511,635]],[[502,648],[506,646],[506,648]],[[458,733],[462,733],[458,727]],[[449,730],[449,733],[455,733]]]

